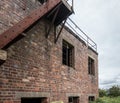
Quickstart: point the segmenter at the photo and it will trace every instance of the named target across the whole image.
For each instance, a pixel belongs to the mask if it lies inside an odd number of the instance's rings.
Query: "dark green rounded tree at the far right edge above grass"
[[[108,95],[109,95],[110,97],[120,96],[120,87],[119,87],[119,86],[112,86],[112,87],[108,90]]]

